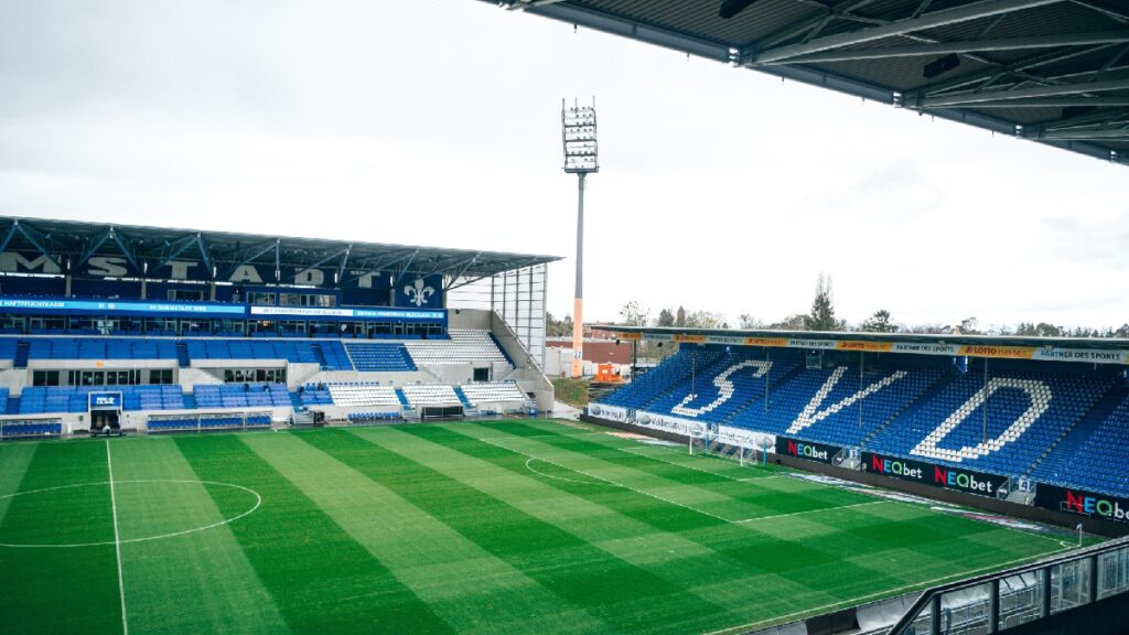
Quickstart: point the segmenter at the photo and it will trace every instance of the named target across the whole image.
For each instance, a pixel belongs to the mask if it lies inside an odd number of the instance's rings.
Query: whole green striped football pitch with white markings
[[[0,632],[712,633],[1058,537],[544,420],[0,445]]]

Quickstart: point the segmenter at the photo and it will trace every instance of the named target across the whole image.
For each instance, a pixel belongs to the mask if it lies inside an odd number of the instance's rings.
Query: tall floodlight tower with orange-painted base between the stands
[[[584,182],[599,172],[596,153],[596,99],[590,106],[561,101],[564,172],[577,175],[576,208],[576,297],[572,306],[572,376],[584,375]]]

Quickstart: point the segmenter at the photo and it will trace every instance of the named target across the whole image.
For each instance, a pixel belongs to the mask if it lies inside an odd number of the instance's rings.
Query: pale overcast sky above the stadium
[[[627,301],[1129,321],[1129,169],[475,0],[0,2],[0,214],[568,256]]]

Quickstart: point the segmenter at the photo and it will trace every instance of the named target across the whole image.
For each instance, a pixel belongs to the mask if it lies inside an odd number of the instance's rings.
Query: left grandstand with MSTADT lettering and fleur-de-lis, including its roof
[[[0,234],[0,423],[552,408],[543,311],[516,289],[543,288],[553,258],[15,218]]]

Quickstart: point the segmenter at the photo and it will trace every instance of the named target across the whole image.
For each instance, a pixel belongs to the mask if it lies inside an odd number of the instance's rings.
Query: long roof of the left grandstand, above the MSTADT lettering
[[[59,259],[55,264],[63,271],[78,269],[91,256],[111,255],[125,258],[139,271],[146,269],[143,263],[155,268],[170,260],[199,260],[220,271],[243,264],[298,270],[323,267],[396,271],[400,277],[444,275],[452,281],[561,260],[554,255],[0,217],[0,252],[6,250]]]

